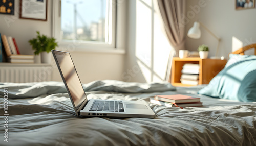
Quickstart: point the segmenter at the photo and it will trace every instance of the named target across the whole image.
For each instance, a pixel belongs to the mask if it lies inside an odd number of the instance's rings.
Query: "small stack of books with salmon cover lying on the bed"
[[[156,95],[155,98],[151,98],[150,102],[157,105],[166,107],[200,107],[203,103],[200,102],[200,98],[194,98],[192,96],[175,94],[175,95]]]

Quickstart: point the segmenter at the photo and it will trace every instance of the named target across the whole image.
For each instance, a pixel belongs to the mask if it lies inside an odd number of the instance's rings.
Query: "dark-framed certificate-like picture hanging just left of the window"
[[[47,0],[20,0],[19,18],[47,20]]]

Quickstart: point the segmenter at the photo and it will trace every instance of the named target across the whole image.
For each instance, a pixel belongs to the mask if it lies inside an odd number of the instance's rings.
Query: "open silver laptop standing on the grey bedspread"
[[[145,101],[87,99],[70,53],[52,50],[61,78],[77,116],[154,118],[155,113]]]

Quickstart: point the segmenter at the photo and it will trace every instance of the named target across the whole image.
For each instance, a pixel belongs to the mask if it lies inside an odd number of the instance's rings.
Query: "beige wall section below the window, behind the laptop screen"
[[[122,81],[124,55],[93,52],[70,52],[70,54],[82,83],[104,79]],[[53,81],[62,81],[57,66],[53,65],[53,68]]]

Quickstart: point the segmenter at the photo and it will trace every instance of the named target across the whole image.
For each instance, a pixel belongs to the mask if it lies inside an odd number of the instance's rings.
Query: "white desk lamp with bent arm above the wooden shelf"
[[[187,36],[190,38],[194,38],[194,39],[199,39],[201,37],[201,30],[200,30],[200,25],[202,27],[204,27],[204,29],[206,31],[208,31],[212,36],[214,36],[217,40],[218,40],[218,46],[217,46],[217,51],[216,51],[216,55],[215,58],[217,58],[218,55],[218,51],[219,51],[219,45],[220,45],[220,41],[221,39],[219,37],[217,37],[214,33],[212,33],[208,28],[206,28],[201,22],[194,22],[193,27],[191,27],[188,32],[187,32]]]

